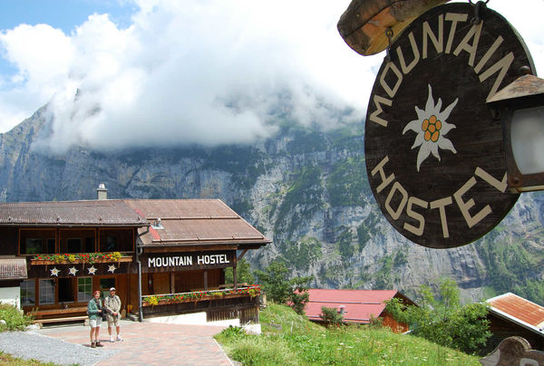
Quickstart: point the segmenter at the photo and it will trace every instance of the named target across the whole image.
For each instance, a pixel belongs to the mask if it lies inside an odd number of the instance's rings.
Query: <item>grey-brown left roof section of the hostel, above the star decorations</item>
[[[122,200],[0,203],[0,226],[147,226]]]

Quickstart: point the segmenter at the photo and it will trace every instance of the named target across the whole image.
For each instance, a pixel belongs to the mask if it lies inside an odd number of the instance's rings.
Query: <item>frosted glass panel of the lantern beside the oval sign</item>
[[[514,111],[510,131],[520,173],[544,172],[544,106]]]

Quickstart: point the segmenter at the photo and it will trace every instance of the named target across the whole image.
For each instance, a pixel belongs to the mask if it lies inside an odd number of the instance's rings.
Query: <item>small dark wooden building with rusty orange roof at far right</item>
[[[544,351],[544,307],[511,293],[493,297],[486,303],[492,333],[487,352],[511,336],[525,338],[533,350]]]

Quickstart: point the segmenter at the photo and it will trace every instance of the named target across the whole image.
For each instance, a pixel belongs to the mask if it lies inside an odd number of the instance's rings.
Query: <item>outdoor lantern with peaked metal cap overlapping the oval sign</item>
[[[544,79],[522,69],[522,76],[486,101],[500,118],[508,188],[514,192],[544,190]]]

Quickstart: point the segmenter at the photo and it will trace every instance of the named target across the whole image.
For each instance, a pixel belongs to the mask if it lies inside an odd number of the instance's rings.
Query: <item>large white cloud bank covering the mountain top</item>
[[[534,11],[489,6],[523,34],[539,68],[544,2],[525,2]],[[47,102],[53,152],[248,143],[274,133],[285,112],[324,128],[338,111],[363,120],[383,55],[360,56],[337,33],[349,3],[141,0],[126,29],[107,14],[73,34],[19,25],[0,33],[0,54],[17,69],[0,76],[0,131]]]

